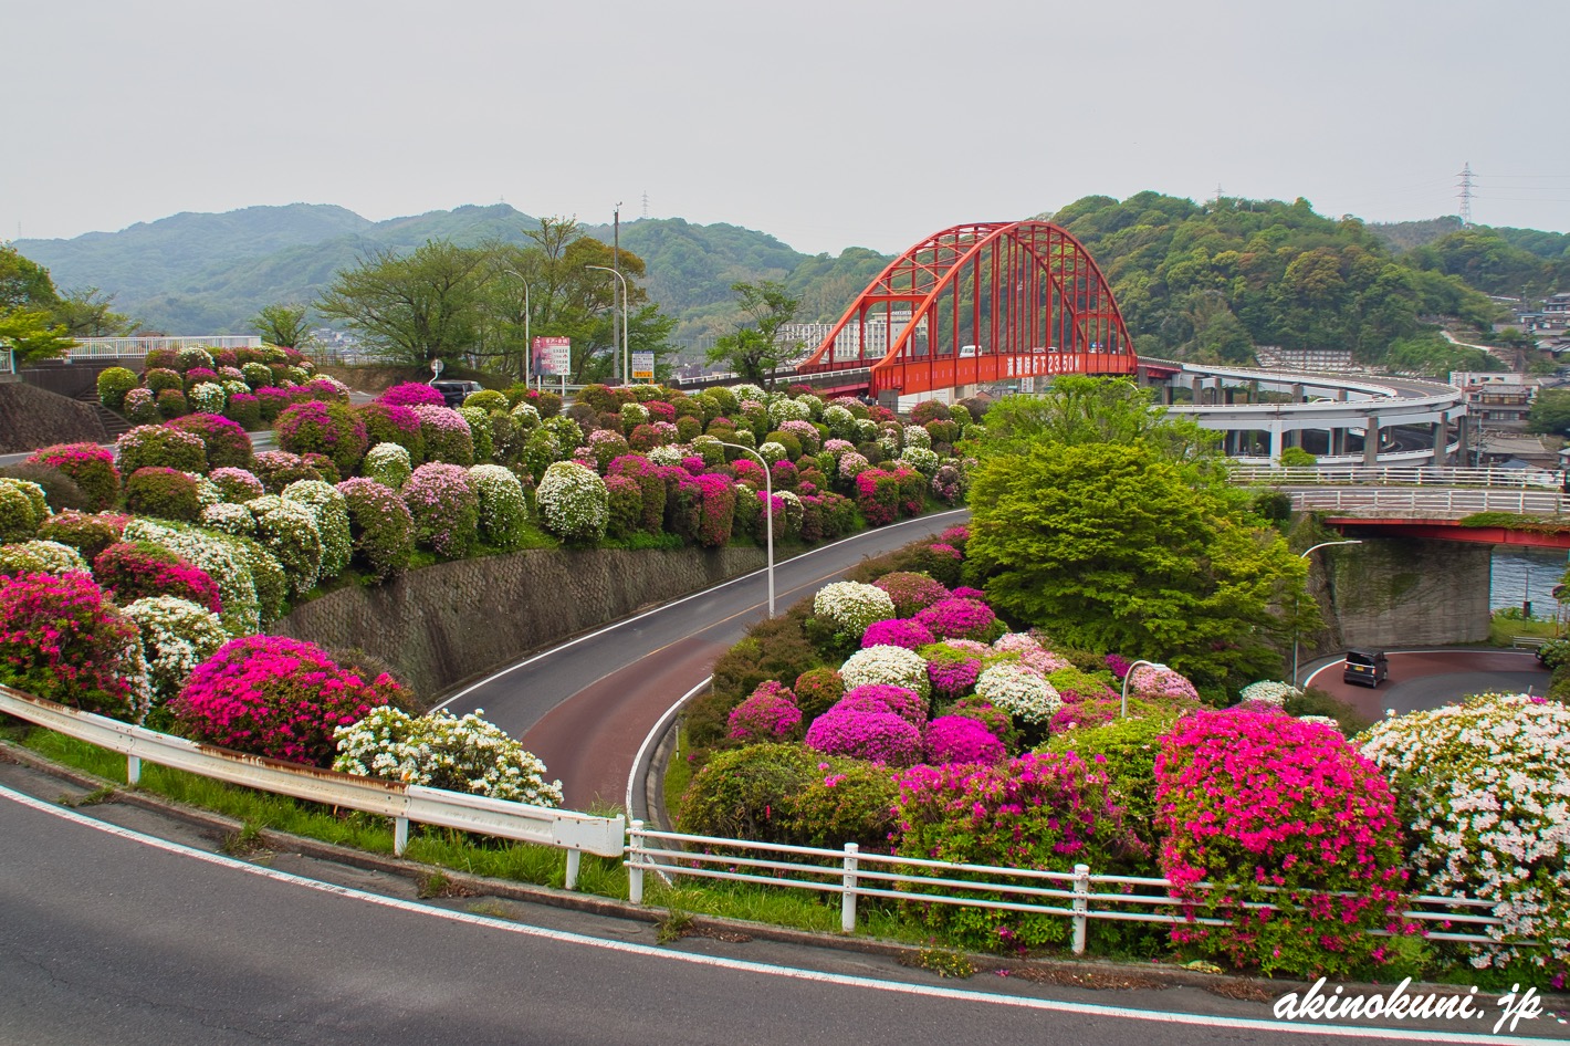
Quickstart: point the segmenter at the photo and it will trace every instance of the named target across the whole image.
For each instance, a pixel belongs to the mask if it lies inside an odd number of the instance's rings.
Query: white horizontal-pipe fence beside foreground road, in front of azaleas
[[[791,858],[799,858],[799,861]],[[840,928],[845,933],[856,930],[856,905],[860,897],[1064,916],[1072,920],[1075,955],[1085,952],[1091,919],[1168,925],[1228,925],[1225,919],[1192,917],[1179,914],[1179,911],[1127,911],[1119,908],[1182,909],[1190,908],[1195,902],[1152,892],[1170,891],[1170,880],[1091,875],[1090,865],[1085,864],[1075,864],[1072,872],[1005,869],[865,853],[856,843],[845,843],[843,850],[829,850],[739,842],[713,836],[685,836],[652,831],[642,821],[633,821],[628,826],[626,867],[630,898],[634,905],[642,903],[645,872],[840,894]],[[923,870],[925,875],[920,873]],[[956,878],[961,875],[977,878]],[[1124,887],[1129,892],[1124,892]],[[1207,891],[1214,886],[1196,883],[1195,889]],[[1261,889],[1267,894],[1286,892],[1276,887]],[[995,894],[1005,900],[984,897],[984,894]],[[1333,891],[1331,895],[1355,897],[1355,894],[1342,891]],[[1498,941],[1496,936],[1454,933],[1451,927],[1460,923],[1487,930],[1504,925],[1492,914],[1476,914],[1479,909],[1493,908],[1493,902],[1488,900],[1421,895],[1411,897],[1408,902],[1411,908],[1404,913],[1407,919],[1440,927],[1427,933],[1432,941],[1492,944]],[[1242,906],[1269,908],[1269,903],[1245,902]],[[1372,933],[1389,936],[1383,930]]]

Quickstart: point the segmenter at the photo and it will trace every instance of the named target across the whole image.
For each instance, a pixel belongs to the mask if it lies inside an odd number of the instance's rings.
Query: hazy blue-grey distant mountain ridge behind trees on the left
[[[46,265],[63,289],[93,286],[113,294],[116,311],[151,330],[223,335],[246,333],[246,320],[264,305],[314,302],[338,270],[372,253],[407,251],[432,239],[524,243],[532,228],[539,220],[509,204],[371,221],[345,207],[297,203],[182,212],[119,232],[16,240],[13,247]],[[586,225],[584,231],[612,239],[611,225]],[[765,232],[683,218],[628,221],[622,245],[647,262],[645,286],[681,320],[678,339],[728,331],[736,319],[730,284],[739,280],[787,283],[802,297],[804,319],[837,319],[848,297],[887,262],[865,248],[849,248],[840,259],[813,258]],[[848,292],[838,291],[857,280]],[[835,292],[820,291],[820,283]]]

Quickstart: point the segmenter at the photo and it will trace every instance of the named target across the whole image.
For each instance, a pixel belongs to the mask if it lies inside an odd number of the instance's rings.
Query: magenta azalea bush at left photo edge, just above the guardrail
[[[0,683],[130,722],[148,710],[137,625],[85,573],[0,584]]]

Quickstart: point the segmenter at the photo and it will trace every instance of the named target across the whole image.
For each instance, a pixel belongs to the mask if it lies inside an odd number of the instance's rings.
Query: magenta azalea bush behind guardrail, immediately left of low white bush
[[[388,675],[367,683],[345,672],[314,644],[242,636],[196,666],[171,710],[196,741],[325,770],[338,754],[333,732],[397,689]]]

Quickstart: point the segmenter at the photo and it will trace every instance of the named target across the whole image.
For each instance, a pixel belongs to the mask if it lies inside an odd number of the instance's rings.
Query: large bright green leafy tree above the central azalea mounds
[[[1313,605],[1278,531],[1145,440],[986,457],[970,504],[988,598],[1058,642],[1245,682]]]

